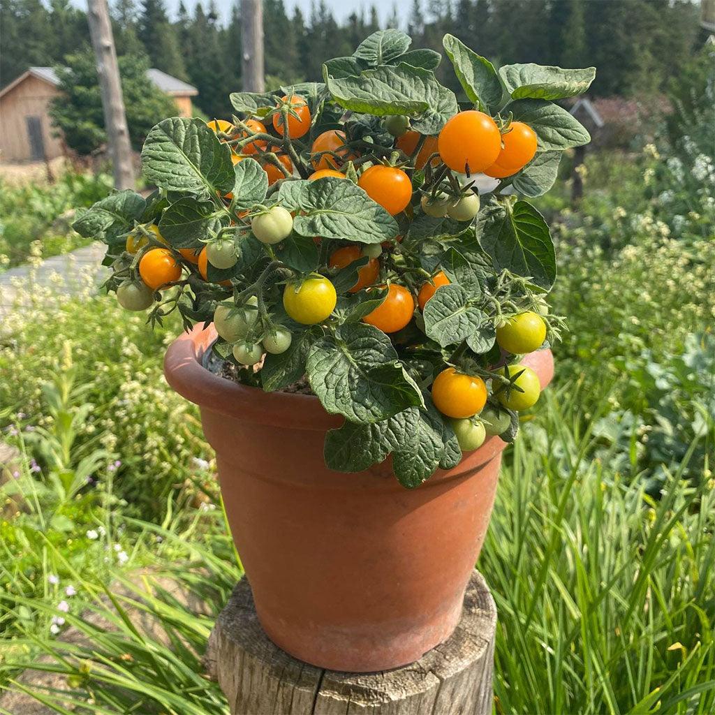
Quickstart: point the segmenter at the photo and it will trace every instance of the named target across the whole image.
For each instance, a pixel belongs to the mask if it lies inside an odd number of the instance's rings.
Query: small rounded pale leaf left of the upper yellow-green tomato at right
[[[478,330],[486,320],[478,302],[460,285],[440,287],[424,310],[425,333],[441,347],[455,345]]]

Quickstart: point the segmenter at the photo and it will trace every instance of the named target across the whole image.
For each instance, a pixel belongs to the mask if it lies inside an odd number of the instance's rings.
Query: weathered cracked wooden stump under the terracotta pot
[[[474,571],[453,635],[416,663],[379,673],[338,673],[303,663],[263,632],[245,579],[209,638],[207,666],[232,715],[489,715],[496,606]]]

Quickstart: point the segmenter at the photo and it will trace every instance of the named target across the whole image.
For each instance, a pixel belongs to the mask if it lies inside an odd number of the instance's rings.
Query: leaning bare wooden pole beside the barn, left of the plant
[[[112,23],[109,21],[107,0],[87,0],[89,35],[97,58],[99,89],[102,92],[104,127],[107,129],[109,155],[114,167],[114,187],[134,188],[132,145],[129,143],[127,116],[124,114],[122,80],[119,79],[117,51],[114,49]]]

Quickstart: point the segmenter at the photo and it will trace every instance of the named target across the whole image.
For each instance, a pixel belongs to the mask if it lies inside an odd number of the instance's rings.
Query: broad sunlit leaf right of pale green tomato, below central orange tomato
[[[345,179],[326,177],[306,182],[293,230],[302,236],[380,243],[399,233],[395,219],[363,189]]]

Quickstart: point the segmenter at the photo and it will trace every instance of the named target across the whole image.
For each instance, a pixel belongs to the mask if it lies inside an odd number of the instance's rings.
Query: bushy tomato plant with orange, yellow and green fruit
[[[230,121],[164,119],[142,149],[156,190],[116,192],[74,227],[107,243],[107,290],[128,310],[213,322],[213,350],[248,385],[305,377],[345,420],[330,468],[392,453],[413,487],[493,435],[513,440],[538,400],[518,359],[563,318],[546,310],[556,255],[530,199],[588,142],[558,100],[595,71],[495,69],[447,35],[458,105],[440,55],[415,67],[409,46],[379,31],[323,82],[230,94]]]

